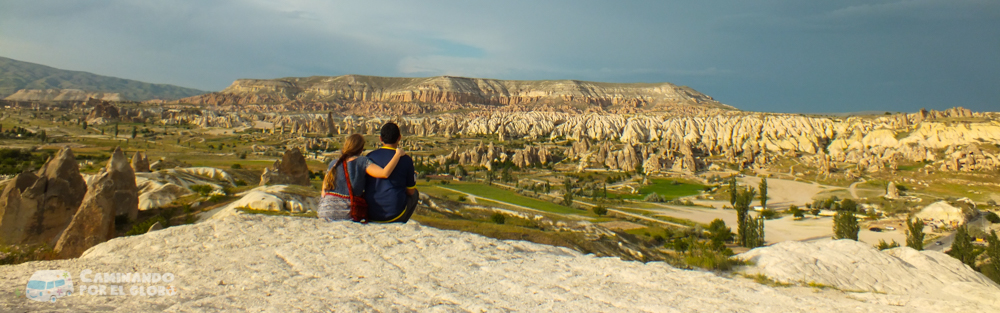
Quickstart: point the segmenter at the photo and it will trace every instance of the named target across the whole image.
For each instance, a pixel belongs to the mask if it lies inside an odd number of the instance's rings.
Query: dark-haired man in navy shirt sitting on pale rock
[[[403,139],[399,126],[389,122],[382,125],[379,139],[382,148],[368,153],[368,158],[378,166],[385,167],[396,154],[396,148]],[[413,169],[413,158],[403,156],[389,178],[368,176],[365,186],[365,201],[368,202],[368,220],[381,223],[406,223],[417,208],[417,177]]]

